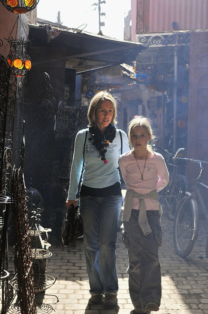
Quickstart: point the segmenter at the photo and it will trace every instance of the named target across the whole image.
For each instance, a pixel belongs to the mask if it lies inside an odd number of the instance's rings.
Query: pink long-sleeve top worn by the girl
[[[153,190],[161,191],[169,182],[169,173],[163,156],[154,152],[153,156],[145,160],[137,159],[141,173],[137,165],[136,159],[131,154],[132,150],[122,154],[119,158],[119,167],[122,177],[129,191],[135,191],[139,194],[145,195]],[[147,210],[159,210],[159,203],[153,199],[145,199]],[[133,198],[133,209],[140,209],[140,200]]]

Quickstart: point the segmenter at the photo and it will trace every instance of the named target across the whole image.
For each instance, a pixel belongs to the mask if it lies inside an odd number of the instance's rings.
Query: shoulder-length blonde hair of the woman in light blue
[[[112,105],[113,105],[113,117],[112,117],[111,123],[114,125],[117,124],[117,121],[116,121],[117,101],[115,100],[115,98],[110,93],[106,92],[105,90],[101,90],[96,95],[94,95],[94,97],[90,101],[88,114],[87,114],[88,120],[89,120],[88,127],[97,127],[96,116],[97,116],[97,113],[98,113],[102,103],[105,100],[108,100],[112,103]]]

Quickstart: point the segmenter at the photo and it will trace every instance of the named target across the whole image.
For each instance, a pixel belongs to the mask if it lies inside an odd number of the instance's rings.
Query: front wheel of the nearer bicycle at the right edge
[[[180,201],[174,221],[173,240],[176,253],[180,257],[190,254],[193,249],[195,240],[192,240],[194,229],[195,210],[191,199],[187,200],[187,196]],[[198,219],[197,219],[198,230]]]

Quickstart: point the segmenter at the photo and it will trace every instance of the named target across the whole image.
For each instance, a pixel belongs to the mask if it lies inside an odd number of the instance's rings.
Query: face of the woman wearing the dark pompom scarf
[[[97,126],[101,133],[104,133],[105,129],[110,124],[114,114],[114,106],[111,101],[105,100],[102,102],[98,113],[96,115]]]

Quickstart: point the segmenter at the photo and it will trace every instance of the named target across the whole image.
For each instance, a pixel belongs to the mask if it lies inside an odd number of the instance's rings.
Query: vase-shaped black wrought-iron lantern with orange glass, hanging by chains
[[[6,38],[5,38],[6,39]],[[17,76],[24,76],[32,66],[27,52],[29,40],[8,38],[10,51],[7,57],[9,65],[13,68]]]

